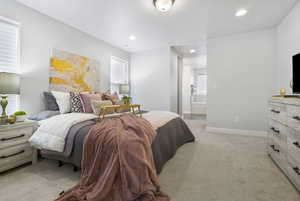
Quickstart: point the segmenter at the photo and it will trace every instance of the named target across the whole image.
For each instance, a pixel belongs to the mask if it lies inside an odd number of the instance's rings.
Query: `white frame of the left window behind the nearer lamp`
[[[0,23],[4,23],[4,24],[9,24],[12,26],[17,27],[17,61],[16,61],[16,68],[13,70],[9,70],[9,69],[0,69],[0,72],[9,72],[9,73],[17,73],[17,74],[21,74],[21,34],[20,34],[20,23],[16,22],[12,19],[0,16]],[[8,104],[11,103],[15,103],[15,106],[13,107],[13,110],[19,110],[20,108],[20,95],[8,95]],[[10,106],[8,105],[7,107],[7,112],[8,114],[13,113],[14,111],[10,111],[8,110],[8,108],[10,108]]]

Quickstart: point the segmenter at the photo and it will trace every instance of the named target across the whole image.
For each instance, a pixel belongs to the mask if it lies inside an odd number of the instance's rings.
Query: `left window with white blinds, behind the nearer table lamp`
[[[17,22],[0,16],[0,72],[20,73],[19,29]],[[7,114],[18,109],[19,95],[8,95]]]

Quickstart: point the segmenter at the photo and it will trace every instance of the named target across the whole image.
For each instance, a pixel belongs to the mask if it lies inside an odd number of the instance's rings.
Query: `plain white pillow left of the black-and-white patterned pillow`
[[[51,93],[56,99],[57,105],[59,107],[59,112],[61,114],[71,112],[70,93],[60,91],[51,91]]]

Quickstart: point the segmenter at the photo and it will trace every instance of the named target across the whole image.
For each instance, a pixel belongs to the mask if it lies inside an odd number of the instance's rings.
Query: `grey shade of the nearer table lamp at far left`
[[[20,94],[20,75],[0,72],[0,94]]]

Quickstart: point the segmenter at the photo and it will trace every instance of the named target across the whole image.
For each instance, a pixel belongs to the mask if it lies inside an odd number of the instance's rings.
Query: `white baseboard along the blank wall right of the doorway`
[[[215,127],[206,127],[206,131],[209,133],[222,133],[226,135],[243,135],[243,136],[255,136],[255,137],[266,137],[268,134],[267,131],[241,130],[241,129],[215,128]]]

